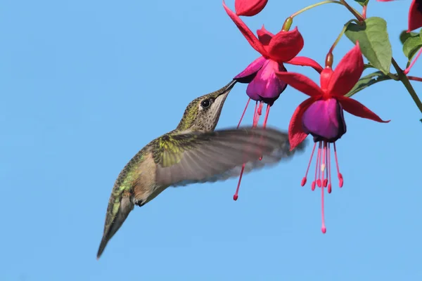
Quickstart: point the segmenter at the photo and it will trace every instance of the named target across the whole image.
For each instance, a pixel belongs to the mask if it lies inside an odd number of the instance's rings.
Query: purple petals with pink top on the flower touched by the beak
[[[283,64],[274,60],[266,60],[261,69],[246,89],[246,93],[252,100],[263,100],[272,105],[280,94],[286,89],[287,84],[276,76],[276,72],[286,71]]]

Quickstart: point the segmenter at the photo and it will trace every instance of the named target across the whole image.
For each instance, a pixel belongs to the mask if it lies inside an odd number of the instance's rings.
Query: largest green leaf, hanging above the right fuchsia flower
[[[383,18],[367,18],[362,25],[350,23],[345,35],[354,44],[359,41],[362,54],[369,63],[384,74],[390,72],[392,51],[388,39],[387,22]]]

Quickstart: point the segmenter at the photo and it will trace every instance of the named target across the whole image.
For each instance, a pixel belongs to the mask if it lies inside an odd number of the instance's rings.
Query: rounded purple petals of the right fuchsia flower
[[[335,98],[316,100],[304,112],[302,126],[305,133],[314,136],[314,141],[337,141],[346,133],[343,107]]]

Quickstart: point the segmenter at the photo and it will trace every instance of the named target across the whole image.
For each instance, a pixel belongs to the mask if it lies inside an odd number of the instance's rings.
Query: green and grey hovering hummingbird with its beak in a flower
[[[288,135],[277,129],[215,130],[236,81],[188,104],[173,131],[148,143],[124,166],[113,186],[97,259],[134,206],[142,207],[172,186],[224,181],[290,158]]]

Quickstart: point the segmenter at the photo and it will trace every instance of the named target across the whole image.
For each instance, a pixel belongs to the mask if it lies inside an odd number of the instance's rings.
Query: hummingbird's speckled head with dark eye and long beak
[[[218,91],[207,93],[191,101],[186,107],[176,131],[214,131],[227,95],[236,81]]]

